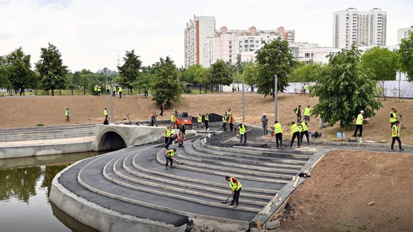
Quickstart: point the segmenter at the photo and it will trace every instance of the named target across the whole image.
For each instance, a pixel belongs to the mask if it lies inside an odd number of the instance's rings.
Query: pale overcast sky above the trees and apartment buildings
[[[387,11],[387,45],[397,29],[413,26],[413,0],[0,0],[0,56],[19,47],[34,64],[54,44],[72,72],[117,70],[125,51],[143,65],[170,56],[184,65],[184,28],[215,16],[215,29],[295,30],[296,42],[332,46],[332,13],[349,7]]]

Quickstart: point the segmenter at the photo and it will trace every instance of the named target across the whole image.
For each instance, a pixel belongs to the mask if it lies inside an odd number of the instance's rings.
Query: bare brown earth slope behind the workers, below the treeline
[[[176,104],[179,111],[188,111],[192,115],[199,113],[214,112],[223,114],[228,108],[231,109],[236,120],[242,121],[242,101],[241,93],[219,93],[219,94],[184,94],[181,103]],[[299,104],[303,109],[317,103],[317,98],[300,96],[295,94],[279,94],[278,97],[278,119],[285,126],[287,123],[296,121],[293,112]],[[271,97],[264,98],[259,94],[245,94],[245,122],[260,125],[260,118],[265,112],[270,122],[274,120],[274,101]],[[413,144],[413,101],[405,100],[395,102],[393,100],[382,101],[384,108],[377,112],[377,116],[369,120],[369,124],[363,128],[364,140],[390,140],[389,114],[392,107],[396,107],[404,115],[403,124],[407,129],[401,131],[401,138],[404,144]],[[102,123],[103,110],[109,109],[110,102],[108,96],[34,96],[34,97],[1,97],[0,98],[0,128],[8,127],[28,127],[41,123],[44,125],[65,124],[64,111],[70,108],[71,122],[75,123]],[[121,99],[114,98],[114,120],[121,121],[125,115],[130,114],[133,120],[149,119],[151,111],[158,111],[159,107],[154,105],[150,97],[143,96],[123,96]],[[164,117],[169,119],[172,110],[166,110]],[[270,127],[271,124],[269,124]],[[335,134],[339,130],[338,126],[333,128],[318,129],[318,120],[311,118],[310,131],[318,131],[327,135],[326,139],[335,139]],[[353,131],[346,131],[347,137]]]

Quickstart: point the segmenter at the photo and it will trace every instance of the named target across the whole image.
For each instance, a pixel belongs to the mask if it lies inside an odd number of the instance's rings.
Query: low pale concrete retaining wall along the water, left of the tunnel
[[[64,144],[36,144],[15,147],[1,147],[0,159],[2,158],[17,158],[39,155],[57,155],[78,152],[95,151],[96,145],[94,141],[79,142],[79,143],[64,143]]]

